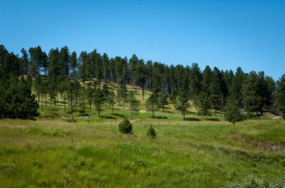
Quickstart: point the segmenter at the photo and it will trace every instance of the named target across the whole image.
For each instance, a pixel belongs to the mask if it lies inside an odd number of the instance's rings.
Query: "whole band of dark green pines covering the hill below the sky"
[[[56,104],[58,94],[71,106],[71,112],[66,113],[72,113],[72,106],[81,102],[83,109],[94,104],[100,116],[103,103],[113,107],[115,101],[120,105],[129,102],[135,112],[139,101],[128,92],[127,84],[141,89],[141,100],[147,100],[152,112],[173,102],[185,116],[191,101],[199,115],[223,112],[232,123],[265,111],[285,118],[285,74],[274,81],[264,72],[245,73],[241,67],[235,71],[209,66],[201,70],[197,63],[168,66],[135,54],[129,59],[109,58],[96,50],[77,55],[67,46],[48,53],[40,46],[28,51],[23,48],[21,53],[15,55],[0,46],[0,118],[32,119],[39,116],[38,108],[48,98]],[[106,82],[116,83],[116,93]],[[152,91],[146,99],[145,90]]]

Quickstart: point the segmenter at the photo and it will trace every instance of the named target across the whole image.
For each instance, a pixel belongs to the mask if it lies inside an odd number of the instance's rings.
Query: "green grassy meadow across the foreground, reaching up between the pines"
[[[49,118],[0,120],[1,187],[223,187],[248,175],[285,177],[285,121],[232,126],[221,114],[189,110],[186,121],[172,104],[151,118],[142,101],[132,135],[118,131],[129,117],[118,105],[114,115],[103,107],[98,117],[93,106],[88,119],[75,113],[76,123],[52,103],[44,107]],[[156,140],[146,135],[150,125]]]

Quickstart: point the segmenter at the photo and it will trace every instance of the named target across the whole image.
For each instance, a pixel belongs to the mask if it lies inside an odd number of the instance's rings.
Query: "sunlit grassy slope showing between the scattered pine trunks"
[[[103,86],[103,82],[101,83],[101,86]],[[108,88],[110,90],[113,90],[114,93],[117,93],[117,86],[115,83],[113,82],[106,82],[108,84]],[[86,82],[86,87],[87,87],[87,82]],[[81,81],[81,85],[82,87],[84,86],[84,83],[82,83]],[[90,82],[90,85],[92,85],[92,82]],[[134,119],[137,120],[171,120],[171,121],[180,121],[183,119],[183,116],[181,113],[177,112],[177,110],[175,109],[174,105],[172,102],[169,101],[169,104],[166,105],[165,107],[165,112],[163,112],[162,109],[158,109],[157,112],[155,112],[155,117],[152,118],[151,117],[151,112],[147,109],[146,107],[146,100],[148,99],[148,97],[151,95],[151,90],[145,90],[145,96],[144,96],[144,100],[142,100],[142,96],[141,96],[141,89],[137,86],[130,86],[127,85],[127,90],[133,90],[137,100],[140,101],[139,104],[139,113],[137,113],[134,116]],[[35,91],[33,92],[34,94]],[[65,96],[66,97],[66,96]],[[41,100],[39,100],[41,101]],[[129,103],[126,102],[125,103],[125,109],[123,108],[122,102],[121,104],[119,104],[119,102],[116,100],[115,103],[115,109],[114,109],[114,114],[112,114],[112,110],[110,109],[110,107],[107,107],[107,105],[102,105],[102,112],[101,112],[101,116],[99,117],[98,114],[96,113],[96,108],[93,104],[93,102],[91,102],[91,109],[89,108],[89,102],[87,99],[85,99],[85,110],[86,110],[86,114],[84,115],[82,112],[82,104],[81,106],[77,106],[74,107],[76,108],[75,112],[73,114],[70,114],[71,111],[71,107],[68,106],[68,104],[66,104],[68,101],[65,99],[65,112],[64,112],[64,104],[63,104],[63,95],[58,94],[58,100],[56,105],[54,105],[53,101],[49,100],[49,96],[47,97],[47,102],[45,102],[45,98],[43,96],[43,109],[44,109],[44,113],[42,113],[42,103],[39,102],[39,114],[41,118],[56,118],[56,117],[61,117],[61,118],[67,118],[68,116],[73,116],[75,117],[75,119],[78,118],[78,121],[81,121],[80,116],[88,116],[88,120],[89,121],[106,121],[106,119],[113,119],[113,120],[120,120],[123,117],[127,117],[130,118],[130,112],[129,112]],[[190,103],[192,104],[192,102],[190,101]],[[221,113],[217,112],[213,112],[213,114],[211,116],[204,116],[203,118],[201,116],[198,116],[196,114],[196,109],[194,107],[194,105],[191,105],[188,109],[189,113],[186,115],[186,120],[189,121],[194,121],[194,120],[210,120],[210,121],[217,121],[217,120],[222,120],[224,119],[224,117],[222,116]]]

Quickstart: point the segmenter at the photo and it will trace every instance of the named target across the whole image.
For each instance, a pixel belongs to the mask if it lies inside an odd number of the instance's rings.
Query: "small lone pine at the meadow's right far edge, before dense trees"
[[[243,119],[243,116],[239,109],[239,104],[236,100],[234,100],[233,97],[229,97],[227,101],[224,117],[227,119],[227,121],[233,123],[233,125],[236,121],[241,121]]]

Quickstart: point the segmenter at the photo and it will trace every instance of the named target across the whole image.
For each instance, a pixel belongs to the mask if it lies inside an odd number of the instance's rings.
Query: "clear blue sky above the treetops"
[[[0,0],[8,51],[68,46],[220,69],[285,74],[285,0]]]

